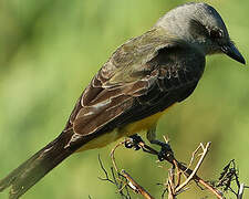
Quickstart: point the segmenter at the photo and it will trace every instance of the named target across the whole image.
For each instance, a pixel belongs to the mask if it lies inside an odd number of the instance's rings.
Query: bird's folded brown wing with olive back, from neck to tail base
[[[180,49],[158,29],[126,42],[83,92],[68,125],[80,135],[110,132],[186,98],[203,71],[178,59]],[[200,60],[189,62],[204,67]]]

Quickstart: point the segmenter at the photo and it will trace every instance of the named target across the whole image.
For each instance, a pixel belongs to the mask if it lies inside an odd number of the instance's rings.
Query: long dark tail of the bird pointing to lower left
[[[0,180],[0,191],[11,186],[10,199],[18,199],[34,184],[56,167],[77,148],[65,147],[73,132],[63,132],[58,138]]]

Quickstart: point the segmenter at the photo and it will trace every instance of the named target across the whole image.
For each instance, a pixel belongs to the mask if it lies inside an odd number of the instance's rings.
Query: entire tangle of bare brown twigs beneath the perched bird
[[[165,142],[168,143],[168,139],[165,138]],[[124,144],[125,144],[125,142],[118,143],[111,151],[111,158],[112,158],[112,164],[113,164],[113,167],[111,168],[111,170],[112,170],[113,180],[110,179],[108,174],[104,169],[104,166],[98,157],[101,168],[104,170],[104,174],[105,174],[105,178],[100,178],[100,179],[115,184],[122,198],[125,197],[126,199],[131,199],[128,190],[132,189],[134,192],[142,195],[145,199],[154,199],[149,195],[148,191],[146,191],[139,184],[137,184],[131,177],[131,175],[128,175],[125,170],[120,171],[117,164],[116,164],[116,159],[115,159],[115,150],[120,146],[123,146]],[[160,155],[160,157],[162,157],[162,153],[159,153],[158,150],[146,145],[144,142],[141,142],[138,144],[138,148],[139,147],[145,153],[156,155],[156,156]],[[162,185],[166,186],[166,188],[164,189],[164,192],[162,195],[162,199],[164,198],[164,195],[166,191],[168,192],[168,199],[175,199],[177,195],[179,195],[188,189],[188,188],[186,188],[186,186],[191,180],[194,180],[197,184],[197,186],[199,186],[199,187],[203,186],[206,189],[208,189],[209,191],[211,191],[218,199],[225,199],[225,196],[220,190],[217,189],[217,187],[222,187],[225,191],[230,190],[237,196],[237,199],[242,199],[243,190],[245,190],[245,188],[248,188],[248,186],[246,186],[243,184],[239,184],[239,179],[238,179],[237,170],[235,168],[234,160],[231,160],[229,163],[229,165],[227,165],[225,167],[225,169],[221,172],[221,176],[219,178],[219,184],[217,186],[216,186],[216,184],[205,181],[199,176],[197,176],[197,171],[200,168],[201,164],[204,163],[204,159],[208,154],[209,147],[210,147],[210,143],[207,143],[207,145],[200,144],[197,147],[197,149],[193,153],[193,156],[191,156],[191,159],[190,159],[190,163],[188,166],[185,166],[185,164],[179,163],[175,158],[174,153],[172,150],[163,154],[163,156],[164,156],[163,159],[170,163],[173,168],[169,170],[167,182],[162,184]],[[194,170],[191,170],[190,166],[193,165],[195,156],[198,153],[198,150],[200,150],[200,148],[203,149],[203,151],[198,155],[200,157],[199,157]],[[230,165],[232,165],[234,167],[230,168]],[[183,175],[186,177],[186,179],[181,182],[180,179],[181,179]],[[234,191],[230,187],[230,182],[232,180],[236,181],[237,187],[239,188],[238,192]],[[126,190],[127,193],[124,193],[123,190]]]

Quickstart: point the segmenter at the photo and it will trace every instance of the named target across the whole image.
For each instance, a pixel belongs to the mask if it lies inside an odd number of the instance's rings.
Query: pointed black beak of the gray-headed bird
[[[242,64],[246,64],[243,56],[240,54],[240,52],[238,51],[238,49],[235,46],[234,43],[230,42],[228,45],[221,46],[221,51],[228,56],[230,56],[231,59]]]

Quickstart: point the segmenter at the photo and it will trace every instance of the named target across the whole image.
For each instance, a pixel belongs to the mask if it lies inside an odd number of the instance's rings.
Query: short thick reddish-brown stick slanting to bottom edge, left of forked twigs
[[[125,170],[121,171],[122,175],[127,179],[128,187],[135,192],[141,193],[146,199],[154,199],[142,186],[139,186]]]

